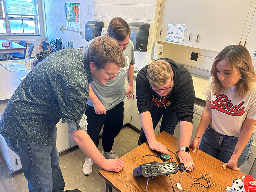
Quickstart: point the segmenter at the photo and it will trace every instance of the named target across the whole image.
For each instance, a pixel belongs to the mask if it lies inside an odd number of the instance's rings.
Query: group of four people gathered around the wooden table
[[[52,53],[13,93],[0,121],[0,134],[20,157],[29,191],[64,190],[55,125],[61,118],[86,155],[84,175],[91,174],[93,163],[107,171],[123,169],[124,162],[112,146],[123,125],[123,100],[133,94],[135,59],[130,33],[127,22],[113,18],[105,36],[91,40],[83,52],[66,48]],[[189,143],[195,102],[189,71],[168,58],[142,68],[136,79],[142,124],[138,144],[148,141],[152,150],[169,154],[154,134],[162,117],[161,132],[173,135],[180,122],[179,159],[189,171],[195,166],[189,146],[193,152],[199,148],[223,161],[223,167],[240,170],[250,154],[256,123],[256,75],[248,50],[241,45],[227,46],[216,56],[211,74],[204,89],[206,106]]]

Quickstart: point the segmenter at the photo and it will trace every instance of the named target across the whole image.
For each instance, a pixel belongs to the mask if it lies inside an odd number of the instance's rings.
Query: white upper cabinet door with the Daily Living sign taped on
[[[160,41],[180,44],[166,41],[166,35],[169,23],[178,23],[186,25],[184,41],[182,45],[192,47],[194,34],[196,31],[196,23],[199,14],[201,0],[166,0],[164,6],[164,16],[162,23],[162,33]],[[191,35],[190,35],[191,34]],[[190,40],[189,40],[190,35]]]

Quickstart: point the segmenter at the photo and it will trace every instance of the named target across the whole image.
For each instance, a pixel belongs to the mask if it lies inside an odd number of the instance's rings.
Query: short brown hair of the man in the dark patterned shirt
[[[105,67],[107,63],[116,63],[120,67],[125,66],[122,50],[117,42],[108,37],[100,36],[92,39],[92,43],[84,53],[84,63],[89,66],[93,62],[96,68]]]

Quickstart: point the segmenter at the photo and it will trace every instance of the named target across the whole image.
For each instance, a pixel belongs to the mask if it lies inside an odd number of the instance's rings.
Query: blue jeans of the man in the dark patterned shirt
[[[63,192],[65,182],[59,166],[56,131],[55,125],[52,146],[4,138],[9,148],[20,157],[30,192]]]

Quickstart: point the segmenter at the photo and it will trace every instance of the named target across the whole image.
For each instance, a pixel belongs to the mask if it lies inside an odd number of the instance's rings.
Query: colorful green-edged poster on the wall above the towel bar
[[[80,29],[80,3],[65,3],[66,26]]]

